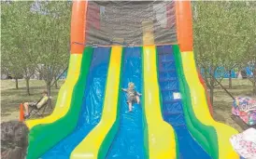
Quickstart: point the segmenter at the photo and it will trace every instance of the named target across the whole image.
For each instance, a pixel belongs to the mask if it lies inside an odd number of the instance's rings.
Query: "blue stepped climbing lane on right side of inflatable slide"
[[[181,99],[174,99],[179,92],[178,73],[172,46],[158,46],[159,85],[163,99],[164,121],[174,127],[178,136],[180,159],[210,159],[211,157],[192,138],[184,118]]]

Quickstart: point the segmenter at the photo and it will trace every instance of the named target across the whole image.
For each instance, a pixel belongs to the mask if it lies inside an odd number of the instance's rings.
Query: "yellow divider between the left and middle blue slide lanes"
[[[121,50],[121,46],[113,46],[111,50],[101,121],[78,144],[77,148],[71,153],[71,159],[98,159],[100,147],[116,121],[121,74]],[[104,149],[108,148],[105,147]]]

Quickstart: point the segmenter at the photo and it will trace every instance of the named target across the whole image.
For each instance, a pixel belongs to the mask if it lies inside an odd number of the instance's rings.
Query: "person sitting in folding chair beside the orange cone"
[[[48,102],[48,93],[46,90],[43,91],[43,97],[41,99],[39,99],[38,101],[34,101],[34,102],[25,102],[24,105],[24,109],[25,109],[25,118],[29,117],[29,107],[31,108],[36,108],[39,109],[41,108],[43,105],[45,105]]]

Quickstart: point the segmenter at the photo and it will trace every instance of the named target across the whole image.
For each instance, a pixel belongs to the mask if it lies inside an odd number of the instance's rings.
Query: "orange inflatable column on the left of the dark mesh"
[[[74,43],[85,44],[87,5],[88,1],[73,1],[70,34],[71,54],[82,54],[83,52],[84,46]]]

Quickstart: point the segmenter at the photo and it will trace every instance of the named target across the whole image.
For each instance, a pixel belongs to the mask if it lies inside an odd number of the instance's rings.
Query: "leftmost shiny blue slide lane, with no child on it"
[[[90,73],[86,81],[88,87],[84,91],[78,125],[72,134],[60,141],[49,152],[46,152],[41,159],[69,159],[71,152],[78,143],[100,122],[109,57],[110,47],[96,47],[94,49]]]

